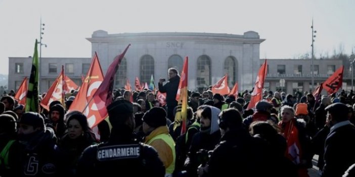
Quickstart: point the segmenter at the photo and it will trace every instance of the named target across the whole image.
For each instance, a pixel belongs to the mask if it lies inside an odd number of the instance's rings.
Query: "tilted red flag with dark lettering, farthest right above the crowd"
[[[343,71],[344,66],[341,66],[323,83],[323,88],[327,90],[328,94],[337,92],[343,85]]]

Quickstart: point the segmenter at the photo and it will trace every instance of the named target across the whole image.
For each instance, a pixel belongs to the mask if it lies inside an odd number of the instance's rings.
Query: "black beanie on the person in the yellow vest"
[[[143,116],[143,122],[150,127],[166,126],[166,111],[162,107],[153,107]]]

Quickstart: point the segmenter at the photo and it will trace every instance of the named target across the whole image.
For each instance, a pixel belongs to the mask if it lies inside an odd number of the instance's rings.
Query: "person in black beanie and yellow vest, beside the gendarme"
[[[165,166],[165,176],[172,176],[175,169],[175,142],[166,126],[166,111],[162,107],[153,107],[143,116],[145,143],[153,146]]]

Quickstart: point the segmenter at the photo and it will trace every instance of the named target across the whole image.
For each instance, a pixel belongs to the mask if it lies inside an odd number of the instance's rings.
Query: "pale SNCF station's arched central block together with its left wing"
[[[228,83],[233,87],[251,88],[259,66],[260,39],[258,33],[245,32],[243,35],[216,33],[123,33],[108,34],[95,31],[91,38],[92,55],[98,53],[102,71],[105,74],[113,58],[130,43],[125,57],[116,74],[116,87],[123,87],[126,80],[134,83],[140,78],[149,84],[151,77],[157,83],[167,78],[168,68],[174,67],[179,73],[183,60],[189,57],[189,89],[200,90],[216,83],[228,74]],[[21,62],[22,61],[22,62]],[[19,83],[29,76],[31,58],[9,57],[9,89],[17,89]],[[65,73],[77,84],[81,74],[90,66],[91,58],[46,58],[40,61],[40,91],[46,92],[60,72]],[[56,71],[56,72],[55,72]]]

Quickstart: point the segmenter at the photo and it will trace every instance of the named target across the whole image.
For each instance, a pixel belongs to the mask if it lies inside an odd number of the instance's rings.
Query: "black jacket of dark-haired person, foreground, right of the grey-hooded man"
[[[266,163],[265,143],[240,128],[221,138],[208,162],[208,176],[267,176],[271,174]]]

